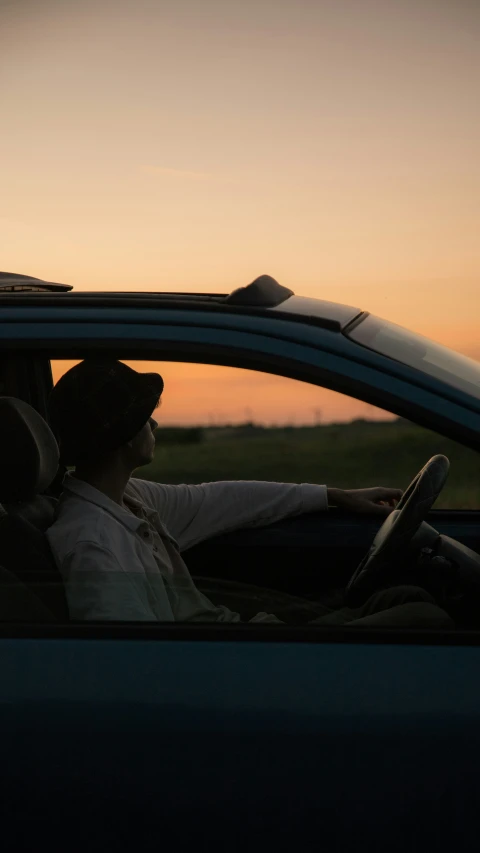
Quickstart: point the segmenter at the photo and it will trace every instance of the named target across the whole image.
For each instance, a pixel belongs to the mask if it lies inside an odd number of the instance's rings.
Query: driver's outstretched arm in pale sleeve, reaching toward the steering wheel
[[[242,527],[263,527],[287,516],[328,509],[326,486],[252,480],[171,486],[130,480],[158,511],[181,550]]]

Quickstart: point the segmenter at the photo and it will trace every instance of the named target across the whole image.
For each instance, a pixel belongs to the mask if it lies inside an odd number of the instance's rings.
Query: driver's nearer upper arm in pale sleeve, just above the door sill
[[[108,548],[95,542],[78,542],[62,560],[60,571],[71,619],[156,621],[148,601],[142,596],[139,578],[122,570]]]

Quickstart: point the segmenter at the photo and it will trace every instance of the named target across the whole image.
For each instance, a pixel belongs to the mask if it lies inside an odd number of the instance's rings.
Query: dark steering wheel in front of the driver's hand
[[[393,579],[394,572],[407,558],[410,542],[442,491],[449,468],[446,456],[432,456],[412,480],[352,575],[345,593],[348,606],[363,604],[385,587],[389,576]]]

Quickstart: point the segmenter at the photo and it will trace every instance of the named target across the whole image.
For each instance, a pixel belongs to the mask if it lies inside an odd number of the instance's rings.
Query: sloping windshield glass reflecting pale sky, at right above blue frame
[[[422,370],[480,400],[480,362],[473,358],[379,317],[366,317],[347,335],[375,352]]]

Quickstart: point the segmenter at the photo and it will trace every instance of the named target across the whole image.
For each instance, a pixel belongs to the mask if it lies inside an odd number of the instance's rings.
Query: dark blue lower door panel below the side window
[[[108,849],[466,850],[479,669],[471,647],[3,639],[2,809],[19,839],[53,820]]]

